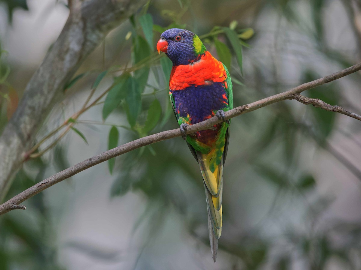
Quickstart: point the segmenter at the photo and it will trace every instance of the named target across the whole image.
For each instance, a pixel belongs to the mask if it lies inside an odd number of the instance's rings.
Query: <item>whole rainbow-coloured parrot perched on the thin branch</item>
[[[169,98],[183,139],[199,163],[208,210],[208,231],[213,261],[222,233],[223,166],[233,108],[232,82],[227,67],[206,50],[195,33],[171,28],[161,34],[157,51],[172,61]],[[217,116],[221,123],[187,135],[189,125]]]

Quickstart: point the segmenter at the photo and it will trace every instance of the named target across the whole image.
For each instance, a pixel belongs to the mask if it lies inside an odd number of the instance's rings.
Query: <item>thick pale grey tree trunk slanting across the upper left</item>
[[[26,159],[36,132],[65,84],[106,34],[129,18],[146,0],[73,0],[68,21],[26,86],[17,111],[0,137],[0,201],[12,176]]]

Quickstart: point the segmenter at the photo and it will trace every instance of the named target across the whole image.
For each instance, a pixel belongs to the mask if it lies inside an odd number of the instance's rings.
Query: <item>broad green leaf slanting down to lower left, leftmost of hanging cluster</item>
[[[103,105],[103,119],[109,116],[110,113],[116,109],[121,103],[122,99],[125,98],[127,89],[125,87],[125,82],[129,78],[129,75],[117,77],[114,80],[112,88],[109,90],[108,95],[106,95],[104,105]]]

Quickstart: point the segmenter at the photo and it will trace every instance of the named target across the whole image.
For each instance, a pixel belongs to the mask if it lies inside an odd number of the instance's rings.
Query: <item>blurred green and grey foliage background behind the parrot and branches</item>
[[[62,0],[0,1],[0,132],[68,14]],[[154,53],[159,31],[172,26],[203,36],[214,55],[227,60],[232,53],[235,106],[361,58],[357,0],[151,1],[87,58],[37,141],[82,108],[101,72],[92,100],[114,80],[126,96],[132,88],[122,70],[149,50],[148,64],[136,71],[139,84],[149,75],[135,98],[140,111],[134,117],[134,100],[121,97],[104,113],[100,99],[54,147],[23,165],[9,198],[109,146],[177,127],[169,62]],[[214,26],[239,34],[239,48],[223,33],[209,34]],[[304,94],[361,114],[360,85],[358,72]],[[361,269],[360,160],[357,120],[294,100],[269,105],[232,119],[216,263],[199,167],[175,138],[83,171],[26,201],[26,211],[1,216],[0,269]]]

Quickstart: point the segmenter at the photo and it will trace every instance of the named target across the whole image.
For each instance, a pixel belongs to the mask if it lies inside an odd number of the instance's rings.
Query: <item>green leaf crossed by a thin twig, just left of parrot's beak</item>
[[[149,48],[148,42],[143,39],[141,36],[136,36],[133,39],[133,56],[134,56],[134,63],[139,63],[144,58],[147,58],[151,54],[151,50]],[[139,85],[139,93],[142,93],[145,85],[148,81],[149,75],[149,65],[146,65],[136,71],[134,71],[134,77],[136,78],[138,85]]]

